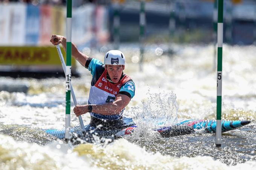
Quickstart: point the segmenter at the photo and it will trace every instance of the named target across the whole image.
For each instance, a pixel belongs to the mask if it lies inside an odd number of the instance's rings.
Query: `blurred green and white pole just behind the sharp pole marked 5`
[[[217,39],[217,22],[218,22],[218,0],[214,0],[213,9],[213,70],[216,70],[216,39]]]

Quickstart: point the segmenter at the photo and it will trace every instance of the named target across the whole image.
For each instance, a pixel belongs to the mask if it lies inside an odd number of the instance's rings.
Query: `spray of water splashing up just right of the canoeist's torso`
[[[143,109],[131,108],[134,112],[134,122],[137,127],[132,136],[126,139],[131,142],[153,141],[161,138],[156,128],[177,124],[178,103],[176,95],[171,92],[148,93],[147,100],[143,101]]]

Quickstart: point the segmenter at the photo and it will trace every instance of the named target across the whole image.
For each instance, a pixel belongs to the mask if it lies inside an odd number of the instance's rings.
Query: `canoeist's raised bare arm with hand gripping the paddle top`
[[[58,39],[58,41],[56,41],[56,39]],[[53,45],[58,45],[61,43],[62,47],[64,48],[64,50],[66,51],[66,37],[64,36],[59,36],[59,35],[52,35],[52,38],[50,39],[50,42]],[[79,63],[82,66],[85,66],[86,61],[88,60],[88,56],[85,54],[82,54],[82,52],[78,51],[78,49],[76,48],[76,45],[74,43],[72,43],[72,56],[79,61]]]

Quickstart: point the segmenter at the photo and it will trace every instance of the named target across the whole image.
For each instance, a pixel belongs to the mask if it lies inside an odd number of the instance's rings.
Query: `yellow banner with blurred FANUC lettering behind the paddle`
[[[66,60],[66,52],[62,48],[61,51],[64,60]],[[0,65],[61,66],[61,62],[55,46],[0,46]],[[72,58],[72,67],[75,67],[74,58]]]

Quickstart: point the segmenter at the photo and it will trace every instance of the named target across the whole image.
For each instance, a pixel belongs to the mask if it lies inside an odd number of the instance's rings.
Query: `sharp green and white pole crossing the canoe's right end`
[[[223,44],[223,0],[218,2],[218,64],[217,64],[217,122],[216,147],[221,147],[221,91],[222,91],[222,44]]]

